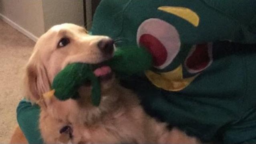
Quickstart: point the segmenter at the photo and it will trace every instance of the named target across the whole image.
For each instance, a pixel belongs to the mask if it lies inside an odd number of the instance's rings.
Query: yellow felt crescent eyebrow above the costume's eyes
[[[184,7],[175,7],[175,6],[160,6],[157,8],[158,10],[162,10],[164,12],[174,14],[187,20],[189,23],[193,24],[195,27],[199,25],[199,16],[193,10]]]

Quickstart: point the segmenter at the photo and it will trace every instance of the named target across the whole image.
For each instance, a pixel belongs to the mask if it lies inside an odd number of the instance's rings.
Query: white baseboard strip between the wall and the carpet
[[[38,37],[35,36],[34,34],[32,34],[31,32],[28,32],[28,30],[22,28],[21,26],[19,26],[18,24],[16,24],[15,22],[13,22],[12,20],[10,20],[9,18],[7,18],[6,16],[4,16],[3,14],[0,14],[0,19],[2,19],[4,22],[6,22],[7,24],[9,24],[10,26],[12,26],[13,28],[15,28],[16,30],[18,30],[19,32],[21,32],[22,34],[24,34],[25,36],[27,36],[28,38],[30,38],[31,40],[33,40],[34,42],[36,42],[38,40]]]

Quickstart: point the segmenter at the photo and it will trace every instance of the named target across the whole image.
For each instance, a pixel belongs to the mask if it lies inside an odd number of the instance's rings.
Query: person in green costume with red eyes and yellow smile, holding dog
[[[203,142],[254,144],[255,7],[255,0],[102,0],[91,32],[149,50],[154,68],[121,78],[148,114]],[[17,118],[28,141],[42,143],[36,106],[22,101]]]

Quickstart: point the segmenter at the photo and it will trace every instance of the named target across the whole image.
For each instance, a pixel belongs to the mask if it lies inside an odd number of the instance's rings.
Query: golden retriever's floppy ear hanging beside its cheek
[[[26,73],[24,77],[26,98],[45,106],[43,94],[50,90],[50,82],[47,76],[46,68],[32,56],[26,66]]]

